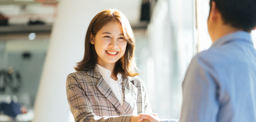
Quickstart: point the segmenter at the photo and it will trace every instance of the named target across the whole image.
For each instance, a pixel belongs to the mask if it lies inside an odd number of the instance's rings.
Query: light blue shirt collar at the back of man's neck
[[[212,44],[211,47],[224,45],[228,41],[232,41],[232,40],[243,40],[243,41],[247,41],[253,45],[250,33],[245,32],[245,31],[236,31],[234,33],[227,34],[227,35],[219,38],[217,41],[215,41]]]

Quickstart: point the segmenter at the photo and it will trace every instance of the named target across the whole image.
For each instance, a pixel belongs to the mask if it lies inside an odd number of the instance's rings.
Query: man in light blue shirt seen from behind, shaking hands
[[[213,45],[192,60],[185,75],[180,122],[256,122],[256,0],[210,0]],[[160,120],[141,114],[138,121]]]

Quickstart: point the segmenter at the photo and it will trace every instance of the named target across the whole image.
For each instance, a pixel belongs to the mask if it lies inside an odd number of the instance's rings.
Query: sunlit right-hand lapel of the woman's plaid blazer
[[[123,77],[123,109],[126,114],[132,114],[136,101],[138,89],[131,83],[134,77]]]

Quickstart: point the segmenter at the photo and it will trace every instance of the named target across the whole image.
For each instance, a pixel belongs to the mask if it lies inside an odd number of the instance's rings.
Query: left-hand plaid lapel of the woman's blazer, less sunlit
[[[122,113],[123,115],[126,115],[123,107],[121,106],[120,102],[116,98],[115,94],[113,93],[111,88],[108,86],[107,82],[101,76],[97,66],[94,66],[93,70],[90,70],[87,72],[90,72],[89,73],[90,76],[99,78],[99,81],[97,83],[97,88],[99,89],[99,91],[108,99],[109,102],[111,102],[115,106],[115,108],[119,110],[120,113]]]

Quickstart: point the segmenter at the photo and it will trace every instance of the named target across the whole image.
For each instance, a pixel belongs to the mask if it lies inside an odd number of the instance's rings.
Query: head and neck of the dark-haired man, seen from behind
[[[218,38],[256,27],[256,0],[210,0],[208,31],[213,42]]]

